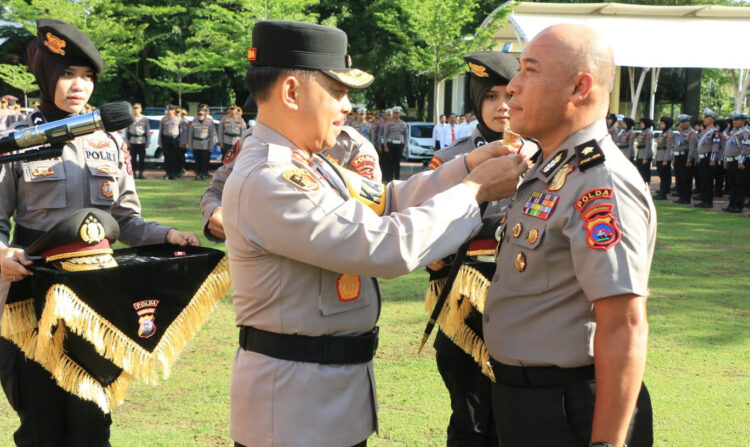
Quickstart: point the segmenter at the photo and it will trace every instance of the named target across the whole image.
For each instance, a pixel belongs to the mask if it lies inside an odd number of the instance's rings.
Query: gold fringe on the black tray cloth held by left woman
[[[156,384],[157,369],[161,369],[165,379],[169,376],[172,364],[226,295],[229,285],[229,262],[225,256],[166,329],[153,352],[131,340],[63,284],[55,284],[47,291],[38,326],[33,324],[33,300],[6,306],[2,335],[49,371],[65,391],[95,402],[108,413],[124,401],[131,380]],[[6,318],[11,321],[8,325]],[[65,354],[63,343],[68,330],[89,341],[99,355],[122,368],[123,373],[103,387]]]

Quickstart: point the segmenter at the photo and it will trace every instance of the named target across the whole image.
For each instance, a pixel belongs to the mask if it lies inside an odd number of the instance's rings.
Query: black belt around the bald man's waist
[[[511,366],[490,358],[495,383],[522,388],[543,388],[594,380],[594,365],[577,368],[557,366]]]

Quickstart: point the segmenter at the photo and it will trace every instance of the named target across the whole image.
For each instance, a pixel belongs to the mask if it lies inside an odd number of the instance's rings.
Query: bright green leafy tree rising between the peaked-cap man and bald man
[[[512,6],[495,10],[479,28],[476,0],[402,0],[400,7],[401,14],[375,13],[375,17],[406,44],[399,62],[432,79],[437,116],[440,82],[464,71],[463,55],[492,47],[492,36]]]

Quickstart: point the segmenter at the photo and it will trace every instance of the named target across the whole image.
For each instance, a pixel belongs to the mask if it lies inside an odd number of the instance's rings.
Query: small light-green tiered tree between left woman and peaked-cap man
[[[202,72],[205,67],[203,52],[188,51],[176,54],[167,50],[167,54],[158,59],[149,59],[159,68],[169,73],[171,79],[148,78],[146,82],[157,87],[167,88],[177,93],[177,104],[182,107],[183,93],[200,92],[208,88],[205,84],[185,82],[185,78],[197,72]]]

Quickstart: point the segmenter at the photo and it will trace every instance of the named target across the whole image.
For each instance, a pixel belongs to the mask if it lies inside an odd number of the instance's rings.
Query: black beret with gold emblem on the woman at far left
[[[69,23],[55,19],[37,19],[36,38],[39,47],[68,65],[91,67],[100,73],[102,56],[91,39]]]

